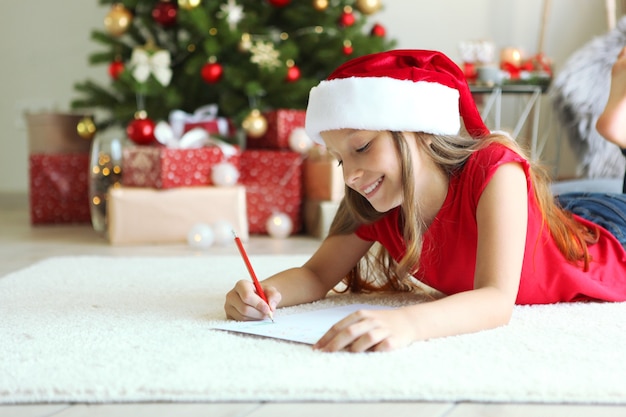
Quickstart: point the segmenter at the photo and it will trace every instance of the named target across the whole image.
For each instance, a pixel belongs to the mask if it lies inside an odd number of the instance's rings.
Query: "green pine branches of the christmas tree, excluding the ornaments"
[[[227,0],[203,0],[191,10],[178,8],[176,24],[168,28],[152,17],[152,10],[163,6],[161,0],[100,0],[102,5],[116,3],[132,13],[132,23],[122,36],[113,36],[105,28],[94,29],[91,39],[100,49],[91,53],[88,61],[106,66],[120,59],[125,70],[108,85],[90,80],[77,82],[77,97],[71,103],[73,108],[107,110],[110,116],[96,121],[98,126],[125,126],[140,102],[154,120],[166,120],[175,109],[191,113],[200,106],[216,103],[220,115],[231,118],[235,124],[241,123],[252,107],[304,109],[311,87],[337,66],[395,45],[393,40],[369,34],[372,16],[359,13],[354,0],[334,1],[322,11],[316,10],[311,1],[292,0],[279,8],[268,0],[235,0],[244,14],[234,24],[224,14]],[[355,9],[356,22],[351,27],[338,24],[344,6]],[[318,28],[322,28],[321,32]],[[246,36],[250,43],[244,45]],[[351,43],[351,55],[344,53],[346,41]],[[170,54],[172,78],[167,86],[153,76],[144,83],[133,77],[133,50],[150,42]],[[272,45],[279,54],[277,65],[252,62],[259,42]],[[201,70],[208,60],[223,68],[216,83],[202,79]],[[285,80],[289,60],[300,69],[301,76],[295,82]]]

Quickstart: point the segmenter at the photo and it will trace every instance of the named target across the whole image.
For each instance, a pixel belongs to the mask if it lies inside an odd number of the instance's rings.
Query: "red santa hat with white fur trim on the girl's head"
[[[362,56],[313,87],[306,132],[323,143],[333,129],[394,130],[474,138],[489,134],[463,71],[436,51],[393,50]]]

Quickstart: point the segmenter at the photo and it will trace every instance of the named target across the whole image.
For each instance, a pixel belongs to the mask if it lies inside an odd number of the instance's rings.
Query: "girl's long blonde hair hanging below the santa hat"
[[[419,202],[414,195],[413,163],[407,139],[401,132],[391,132],[391,136],[399,155],[405,184],[400,217],[406,252],[399,262],[395,262],[389,253],[379,246],[376,253],[369,253],[363,262],[345,277],[346,291],[410,291],[416,288],[411,275],[419,270],[422,236],[426,225],[422,220]],[[472,153],[493,143],[503,144],[529,159],[517,142],[501,134],[492,134],[479,140],[464,136],[424,133],[417,133],[415,138],[418,148],[449,177],[463,169]],[[561,209],[554,201],[547,172],[539,164],[532,161],[529,163],[535,198],[544,223],[548,224],[550,233],[565,259],[572,263],[581,263],[582,268],[587,270],[591,260],[587,245],[597,241],[597,229],[589,230],[577,222],[570,213]],[[345,197],[339,205],[329,235],[353,233],[360,225],[373,223],[384,216],[385,213],[377,212],[361,194],[346,186]]]

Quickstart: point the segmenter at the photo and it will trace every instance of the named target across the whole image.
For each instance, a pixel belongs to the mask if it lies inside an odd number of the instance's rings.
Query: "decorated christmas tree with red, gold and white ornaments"
[[[72,107],[107,110],[87,131],[144,135],[174,109],[217,104],[237,127],[259,110],[304,109],[338,65],[393,46],[368,23],[381,1],[100,0],[111,8],[92,38],[106,50],[89,60],[108,65],[110,85],[77,83]]]

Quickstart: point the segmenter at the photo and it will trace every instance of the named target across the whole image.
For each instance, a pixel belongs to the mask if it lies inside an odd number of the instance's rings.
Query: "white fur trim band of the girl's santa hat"
[[[389,77],[322,81],[309,93],[305,129],[394,130],[454,135],[461,128],[459,92],[443,84]]]

